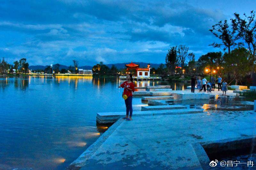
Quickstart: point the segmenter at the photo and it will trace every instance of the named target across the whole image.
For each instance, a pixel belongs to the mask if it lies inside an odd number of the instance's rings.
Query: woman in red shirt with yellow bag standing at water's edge
[[[126,106],[126,116],[123,119],[126,119],[127,121],[132,120],[132,92],[134,92],[134,84],[132,79],[132,74],[127,74],[126,76],[127,81],[125,81],[122,85],[119,85],[119,88],[124,88],[124,94],[127,95],[128,98],[124,100],[125,106]],[[130,111],[130,117],[128,118]]]

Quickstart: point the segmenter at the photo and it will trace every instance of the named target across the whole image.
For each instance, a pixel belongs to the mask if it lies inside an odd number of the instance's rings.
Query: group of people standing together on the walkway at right
[[[226,94],[227,90],[228,90],[228,83],[226,82],[225,79],[222,79],[220,77],[220,75],[218,76],[218,78],[216,79],[215,76],[213,75],[210,79],[210,81],[208,82],[206,80],[206,78],[204,78],[204,76],[202,76],[202,80],[201,77],[199,76],[198,79],[196,80],[196,76],[193,76],[191,78],[191,92],[194,93],[195,92],[195,88],[198,89],[198,92],[202,92],[202,90],[204,90],[204,92],[211,92],[212,90],[215,90],[215,84],[216,81],[218,83],[218,91],[222,91],[223,95],[224,92]]]

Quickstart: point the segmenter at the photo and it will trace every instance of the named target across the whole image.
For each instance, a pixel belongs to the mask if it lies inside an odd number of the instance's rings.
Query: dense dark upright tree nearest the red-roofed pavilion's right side
[[[165,56],[165,63],[169,75],[175,74],[175,67],[179,64],[179,58],[177,55],[177,46],[173,46],[168,50],[168,53]]]

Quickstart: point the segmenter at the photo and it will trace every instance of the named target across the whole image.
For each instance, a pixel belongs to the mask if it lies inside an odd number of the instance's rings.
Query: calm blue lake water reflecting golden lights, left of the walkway
[[[124,80],[92,77],[0,78],[0,169],[65,169],[107,130],[97,112],[125,111]],[[134,82],[135,86],[189,83]],[[141,97],[133,98],[139,111]]]

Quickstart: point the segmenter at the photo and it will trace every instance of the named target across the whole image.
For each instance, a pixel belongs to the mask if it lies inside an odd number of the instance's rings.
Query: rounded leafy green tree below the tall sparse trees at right
[[[250,71],[250,52],[245,48],[236,48],[230,54],[225,53],[224,56],[225,70],[231,72],[238,81]]]

